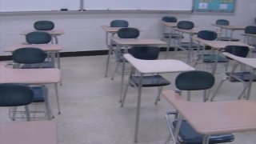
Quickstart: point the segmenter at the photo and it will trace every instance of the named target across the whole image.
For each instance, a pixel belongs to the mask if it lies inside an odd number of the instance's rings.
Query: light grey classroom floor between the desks
[[[178,52],[180,59],[185,55]],[[164,58],[164,53],[161,54]],[[121,76],[114,80],[110,75],[114,71],[114,58],[110,61],[109,77],[104,78],[106,55],[90,57],[61,58],[62,86],[59,86],[62,114],[57,114],[54,97],[50,98],[55,121],[58,122],[59,144],[132,144],[134,143],[134,124],[137,100],[137,90],[128,90],[126,103],[120,107],[119,94]],[[175,89],[174,78],[177,74],[164,74],[171,82],[164,89]],[[224,78],[223,69],[215,74],[216,88],[218,82]],[[126,78],[127,79],[127,78]],[[54,94],[53,86],[50,94]],[[212,90],[212,91],[213,91]],[[242,84],[226,82],[218,93],[218,100],[230,100],[238,97]],[[142,90],[141,119],[138,134],[140,144],[162,144],[168,130],[164,114],[173,110],[164,98],[154,105],[156,88]],[[192,93],[192,101],[201,102],[201,93]],[[251,99],[256,99],[253,86]],[[10,122],[7,110],[0,109],[0,122]],[[256,131],[235,134],[233,144],[254,144]]]

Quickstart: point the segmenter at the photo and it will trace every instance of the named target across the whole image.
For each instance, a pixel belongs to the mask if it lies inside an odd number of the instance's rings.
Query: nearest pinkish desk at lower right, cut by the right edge
[[[205,135],[203,144],[208,143],[211,134],[256,130],[256,101],[188,102],[174,90],[162,95],[194,130]]]

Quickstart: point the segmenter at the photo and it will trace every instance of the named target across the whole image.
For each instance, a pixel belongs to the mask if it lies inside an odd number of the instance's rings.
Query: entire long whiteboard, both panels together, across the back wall
[[[84,10],[192,10],[193,0],[0,0],[0,12],[80,10],[82,7]]]

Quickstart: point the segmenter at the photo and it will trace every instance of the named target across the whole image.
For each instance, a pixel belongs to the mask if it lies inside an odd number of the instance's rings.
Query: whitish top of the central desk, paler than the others
[[[194,70],[193,67],[175,59],[142,60],[134,58],[130,54],[124,54],[124,58],[140,73],[172,73]]]

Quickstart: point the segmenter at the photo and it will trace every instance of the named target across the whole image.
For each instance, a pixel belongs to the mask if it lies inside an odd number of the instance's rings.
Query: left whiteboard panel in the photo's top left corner
[[[0,0],[0,11],[79,10],[80,0]]]

